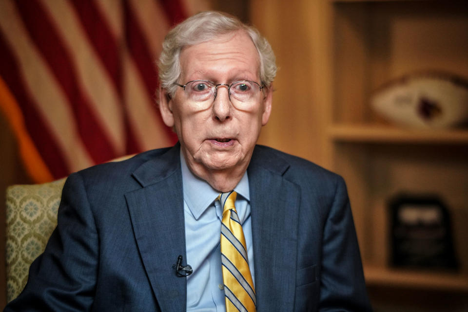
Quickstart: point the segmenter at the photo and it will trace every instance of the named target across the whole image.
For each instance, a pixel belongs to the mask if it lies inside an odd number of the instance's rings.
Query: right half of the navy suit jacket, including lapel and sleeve
[[[278,294],[265,311],[370,311],[343,178],[264,146],[248,175],[257,302]]]

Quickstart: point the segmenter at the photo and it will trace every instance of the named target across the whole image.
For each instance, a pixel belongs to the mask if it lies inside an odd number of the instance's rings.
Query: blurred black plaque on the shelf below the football
[[[399,194],[390,208],[390,265],[457,270],[450,215],[435,195]]]

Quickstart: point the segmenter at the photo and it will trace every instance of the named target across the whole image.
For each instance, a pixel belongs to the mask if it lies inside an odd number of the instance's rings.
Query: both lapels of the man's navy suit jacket
[[[288,167],[255,148],[248,169],[257,312],[293,310],[300,190],[284,179]],[[172,268],[178,255],[186,259],[179,145],[141,165],[134,178],[142,188],[125,197],[159,308],[185,311],[186,278]]]

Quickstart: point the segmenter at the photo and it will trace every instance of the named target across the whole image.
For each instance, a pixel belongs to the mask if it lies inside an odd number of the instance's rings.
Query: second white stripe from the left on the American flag
[[[90,45],[87,35],[68,1],[43,0],[44,6],[51,13],[57,24],[67,50],[77,70],[78,88],[90,100],[90,109],[109,138],[117,154],[125,151],[125,133],[123,129],[123,110],[119,104],[117,90],[99,60],[99,55]]]

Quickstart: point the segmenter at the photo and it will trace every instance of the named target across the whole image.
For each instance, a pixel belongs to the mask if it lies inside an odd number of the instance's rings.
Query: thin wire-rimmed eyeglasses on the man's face
[[[207,109],[213,104],[216,98],[218,87],[227,87],[229,100],[238,109],[249,109],[259,100],[259,94],[265,86],[260,86],[255,81],[241,80],[232,84],[218,83],[208,80],[192,80],[185,85],[174,83],[176,86],[184,88],[189,103],[194,109]]]

